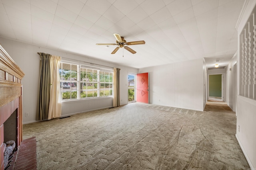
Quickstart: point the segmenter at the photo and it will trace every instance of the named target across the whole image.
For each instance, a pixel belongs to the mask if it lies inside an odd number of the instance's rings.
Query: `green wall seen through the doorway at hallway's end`
[[[209,96],[210,97],[222,97],[221,96],[221,83],[222,74],[209,75]]]

